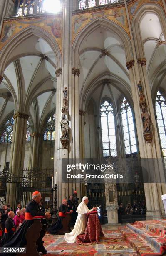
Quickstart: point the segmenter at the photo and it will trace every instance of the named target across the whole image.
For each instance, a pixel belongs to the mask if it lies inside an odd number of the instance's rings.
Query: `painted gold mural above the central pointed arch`
[[[93,11],[88,13],[76,14],[72,16],[72,42],[77,33],[84,28],[88,23],[97,17],[113,20],[118,23],[122,28],[126,30],[129,35],[129,27],[127,24],[125,7],[119,7],[114,9],[106,9],[101,11]]]

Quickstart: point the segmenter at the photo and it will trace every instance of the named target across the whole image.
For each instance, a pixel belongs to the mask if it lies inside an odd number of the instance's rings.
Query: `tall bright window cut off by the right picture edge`
[[[156,115],[163,157],[166,158],[166,99],[160,91],[156,96]]]

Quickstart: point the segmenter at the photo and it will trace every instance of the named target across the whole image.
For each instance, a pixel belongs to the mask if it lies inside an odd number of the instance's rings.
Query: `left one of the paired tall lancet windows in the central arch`
[[[100,107],[102,144],[104,158],[117,156],[114,110],[111,102],[105,100]]]

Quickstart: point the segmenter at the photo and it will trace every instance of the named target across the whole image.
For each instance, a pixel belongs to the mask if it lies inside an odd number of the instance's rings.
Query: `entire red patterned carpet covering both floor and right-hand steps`
[[[47,256],[153,256],[166,255],[166,220],[136,221],[126,226],[102,227],[105,238],[99,244],[66,243],[64,235],[44,237]]]

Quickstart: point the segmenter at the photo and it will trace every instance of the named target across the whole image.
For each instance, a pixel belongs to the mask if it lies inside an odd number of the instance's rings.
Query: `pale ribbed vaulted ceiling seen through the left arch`
[[[41,125],[56,104],[56,59],[51,47],[31,36],[10,55],[0,87],[0,121],[14,112],[30,115]],[[36,120],[35,120],[36,119]]]

